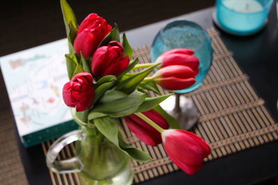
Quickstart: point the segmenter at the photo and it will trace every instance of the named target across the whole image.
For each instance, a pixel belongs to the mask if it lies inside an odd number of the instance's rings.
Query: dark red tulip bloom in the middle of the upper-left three
[[[119,76],[129,65],[129,57],[124,57],[124,47],[120,42],[111,41],[101,46],[92,56],[92,74],[95,76]]]

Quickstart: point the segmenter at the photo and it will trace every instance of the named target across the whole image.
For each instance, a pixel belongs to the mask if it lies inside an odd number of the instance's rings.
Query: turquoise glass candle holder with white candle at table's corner
[[[259,31],[273,0],[217,0],[218,26],[235,35],[250,35]]]

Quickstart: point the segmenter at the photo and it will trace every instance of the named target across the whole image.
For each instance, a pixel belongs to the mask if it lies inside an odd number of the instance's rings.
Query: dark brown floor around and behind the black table
[[[214,0],[84,0],[68,1],[79,23],[97,12],[109,24],[117,22],[121,31],[213,6]],[[56,1],[5,1],[0,6],[0,56],[65,37],[60,3]],[[0,72],[1,73],[1,72]],[[20,162],[10,104],[0,75],[0,182],[27,184]],[[17,134],[17,133],[16,133]]]

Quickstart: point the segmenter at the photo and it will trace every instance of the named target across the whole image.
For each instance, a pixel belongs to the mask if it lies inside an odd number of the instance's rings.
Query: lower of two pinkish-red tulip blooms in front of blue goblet
[[[153,79],[161,87],[170,91],[186,89],[196,82],[195,71],[182,65],[163,67],[156,71]]]

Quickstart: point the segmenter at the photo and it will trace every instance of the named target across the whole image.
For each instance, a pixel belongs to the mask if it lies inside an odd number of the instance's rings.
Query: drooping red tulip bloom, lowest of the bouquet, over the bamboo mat
[[[202,168],[203,159],[211,152],[204,139],[186,130],[164,130],[162,140],[173,163],[189,175]]]

